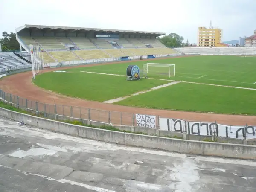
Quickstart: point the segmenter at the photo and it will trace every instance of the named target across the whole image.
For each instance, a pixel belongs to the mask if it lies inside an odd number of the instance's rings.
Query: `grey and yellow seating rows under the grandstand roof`
[[[20,38],[27,47],[30,44],[41,45],[43,47],[44,63],[177,53],[172,49],[166,48],[156,39],[119,38],[109,40],[87,37]],[[110,41],[116,41],[122,48],[114,49]],[[147,44],[150,44],[153,48],[146,47]],[[73,45],[75,49],[70,51],[70,46],[68,45]]]

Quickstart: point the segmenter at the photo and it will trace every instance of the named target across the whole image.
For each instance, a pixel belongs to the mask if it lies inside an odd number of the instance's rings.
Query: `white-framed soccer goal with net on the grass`
[[[175,64],[146,63],[143,65],[143,70],[147,75],[175,76]]]

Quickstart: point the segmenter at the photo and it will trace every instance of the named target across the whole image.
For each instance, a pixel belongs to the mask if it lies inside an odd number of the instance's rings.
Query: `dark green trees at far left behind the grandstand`
[[[15,33],[2,33],[3,38],[0,39],[0,44],[2,44],[2,50],[19,50],[20,44],[16,40],[16,34]]]

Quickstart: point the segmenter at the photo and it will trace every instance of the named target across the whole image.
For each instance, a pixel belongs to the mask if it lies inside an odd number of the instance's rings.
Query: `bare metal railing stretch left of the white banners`
[[[93,122],[102,122],[110,125],[135,126],[134,113],[104,111],[98,109],[81,108],[76,106],[47,104],[22,98],[0,90],[0,99],[9,104],[35,113],[49,119],[84,119]]]

